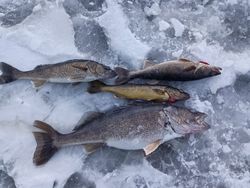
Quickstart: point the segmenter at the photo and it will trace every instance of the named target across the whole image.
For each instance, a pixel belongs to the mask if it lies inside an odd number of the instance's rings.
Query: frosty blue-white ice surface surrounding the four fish
[[[185,102],[209,114],[211,128],[142,151],[103,147],[61,149],[35,167],[34,120],[70,132],[87,111],[127,102],[91,95],[87,84],[29,81],[0,86],[0,187],[249,187],[250,19],[241,0],[1,1],[0,57],[29,70],[70,58],[139,69],[144,58],[186,57],[223,68],[222,75],[172,82],[190,93]],[[180,103],[180,105],[183,105]]]

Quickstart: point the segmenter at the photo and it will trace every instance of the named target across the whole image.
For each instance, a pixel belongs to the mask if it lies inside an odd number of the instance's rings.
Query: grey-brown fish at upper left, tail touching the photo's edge
[[[0,63],[0,84],[15,80],[32,80],[34,87],[46,82],[79,83],[100,80],[112,82],[116,73],[108,66],[91,60],[73,59],[56,64],[38,65],[30,71],[20,71],[11,65]]]

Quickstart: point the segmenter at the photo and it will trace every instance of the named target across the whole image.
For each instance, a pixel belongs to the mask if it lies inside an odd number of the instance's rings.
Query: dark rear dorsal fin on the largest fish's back
[[[93,121],[94,119],[96,119],[102,115],[103,115],[103,113],[95,112],[95,111],[89,111],[89,112],[84,113],[83,116],[81,117],[81,119],[76,124],[73,131],[80,130],[82,127],[84,127],[84,125],[86,125],[87,123]]]

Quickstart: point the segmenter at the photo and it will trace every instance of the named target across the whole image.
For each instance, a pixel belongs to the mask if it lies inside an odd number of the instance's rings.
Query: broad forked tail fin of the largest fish
[[[33,163],[38,166],[46,163],[56,153],[58,148],[54,145],[54,140],[60,135],[60,133],[42,121],[35,121],[34,127],[44,131],[33,132],[37,142],[33,156]]]

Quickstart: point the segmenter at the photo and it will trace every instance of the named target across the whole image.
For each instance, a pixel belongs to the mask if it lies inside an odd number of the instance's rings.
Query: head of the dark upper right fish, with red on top
[[[201,77],[210,77],[221,74],[222,68],[211,66],[208,63],[199,61],[196,66],[195,74],[200,75]]]

